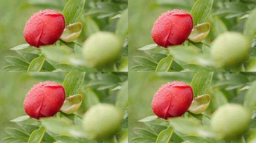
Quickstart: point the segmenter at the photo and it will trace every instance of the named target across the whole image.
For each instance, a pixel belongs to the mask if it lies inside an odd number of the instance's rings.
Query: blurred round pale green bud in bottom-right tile
[[[221,138],[238,137],[250,124],[250,113],[241,105],[225,104],[211,118],[211,127]]]

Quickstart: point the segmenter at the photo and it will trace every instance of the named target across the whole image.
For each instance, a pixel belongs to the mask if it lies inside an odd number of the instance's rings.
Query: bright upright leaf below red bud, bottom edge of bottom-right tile
[[[165,130],[162,130],[156,139],[156,143],[168,143],[173,134],[174,128],[171,126]]]

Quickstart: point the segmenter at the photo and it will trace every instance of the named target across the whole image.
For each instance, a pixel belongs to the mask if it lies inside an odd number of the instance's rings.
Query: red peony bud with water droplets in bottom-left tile
[[[34,85],[24,100],[25,112],[32,118],[55,115],[65,100],[65,90],[58,83],[45,81]]]

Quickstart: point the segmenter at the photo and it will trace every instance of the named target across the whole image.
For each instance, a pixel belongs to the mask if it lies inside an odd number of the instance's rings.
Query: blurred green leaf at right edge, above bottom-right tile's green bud
[[[249,109],[250,112],[256,107],[256,82],[254,82],[251,88],[247,91],[244,98],[244,106]]]

